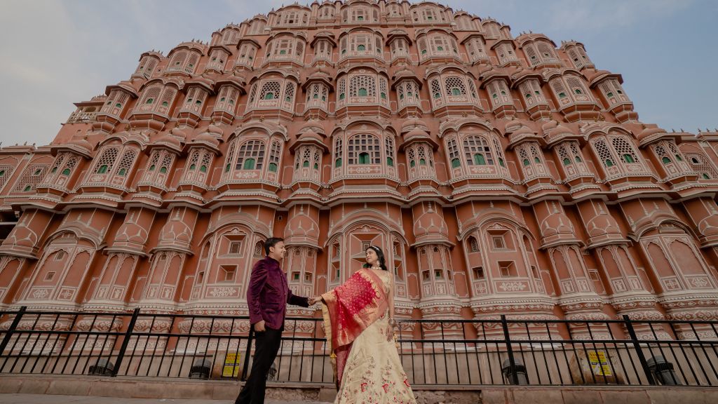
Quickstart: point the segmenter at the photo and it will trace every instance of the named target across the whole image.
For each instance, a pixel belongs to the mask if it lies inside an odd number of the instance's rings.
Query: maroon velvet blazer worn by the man
[[[270,329],[284,329],[286,303],[309,307],[309,299],[297,296],[289,290],[286,275],[279,267],[279,261],[264,257],[252,268],[247,288],[249,322],[264,320]]]

